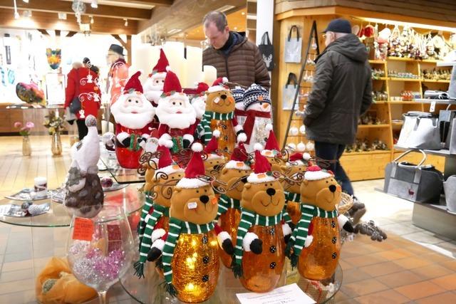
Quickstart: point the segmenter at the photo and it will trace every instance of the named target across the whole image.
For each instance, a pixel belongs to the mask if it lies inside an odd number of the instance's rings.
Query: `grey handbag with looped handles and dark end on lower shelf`
[[[390,162],[385,167],[385,185],[383,191],[401,199],[420,203],[439,204],[443,187],[443,174],[432,164],[423,165],[426,154],[418,165],[409,162],[399,162],[405,155],[414,150],[408,150]]]

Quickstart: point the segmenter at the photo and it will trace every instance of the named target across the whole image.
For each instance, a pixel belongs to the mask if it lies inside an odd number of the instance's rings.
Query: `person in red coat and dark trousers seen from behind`
[[[84,58],[86,61],[86,58]],[[81,63],[73,63],[73,68],[67,75],[65,89],[65,108],[69,107],[71,101],[75,98],[81,100],[81,110],[76,112],[76,123],[78,125],[79,140],[82,140],[88,132],[86,127],[87,115],[98,116],[98,109],[101,104],[101,92],[95,79],[98,73],[95,73],[95,67],[90,65],[90,61],[83,66]]]

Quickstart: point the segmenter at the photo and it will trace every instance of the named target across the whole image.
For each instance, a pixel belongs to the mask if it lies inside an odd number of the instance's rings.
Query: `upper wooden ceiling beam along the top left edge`
[[[40,0],[25,3],[17,1],[18,9],[30,9],[31,11],[43,11],[54,13],[74,14],[71,9],[72,2],[61,0]],[[0,0],[0,8],[13,9],[14,4],[11,0]],[[86,4],[86,13],[92,16],[101,16],[108,18],[131,19],[131,20],[148,20],[152,16],[152,9],[135,9],[123,6],[110,6],[98,4],[98,9],[93,9],[90,4]]]

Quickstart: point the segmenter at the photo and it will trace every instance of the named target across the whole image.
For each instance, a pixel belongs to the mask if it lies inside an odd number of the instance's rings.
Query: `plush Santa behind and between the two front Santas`
[[[157,64],[152,68],[152,73],[149,74],[149,77],[144,84],[144,95],[147,100],[149,100],[154,107],[157,107],[158,100],[163,93],[163,85],[166,78],[166,68],[169,66],[165,52],[160,48],[160,58],[157,61]]]

